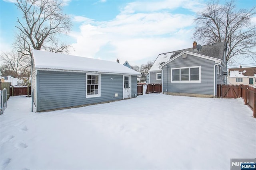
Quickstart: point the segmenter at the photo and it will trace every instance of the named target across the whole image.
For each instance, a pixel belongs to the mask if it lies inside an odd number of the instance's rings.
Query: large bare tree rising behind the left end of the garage
[[[71,30],[70,18],[63,14],[60,0],[17,0],[22,12],[18,18],[15,46],[18,52],[32,57],[32,49],[68,53],[70,45],[59,43],[61,34]]]

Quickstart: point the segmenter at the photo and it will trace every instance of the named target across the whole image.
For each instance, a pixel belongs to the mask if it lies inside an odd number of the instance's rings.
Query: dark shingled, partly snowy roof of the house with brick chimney
[[[192,52],[192,53],[196,53],[196,54],[200,54],[200,55],[213,57],[213,58],[222,60],[222,58],[224,56],[224,51],[225,51],[224,45],[225,45],[224,42],[213,43],[210,45],[202,45],[202,49],[199,52],[196,49],[192,49],[192,47],[191,47],[188,49],[182,49],[182,50],[178,50],[178,51],[172,51],[172,52],[168,52],[168,53],[159,54],[158,57],[156,58],[156,60],[154,61],[153,66],[150,68],[149,71],[160,70],[159,69],[160,65],[168,62],[170,59],[179,55],[183,51],[188,51],[188,52]]]

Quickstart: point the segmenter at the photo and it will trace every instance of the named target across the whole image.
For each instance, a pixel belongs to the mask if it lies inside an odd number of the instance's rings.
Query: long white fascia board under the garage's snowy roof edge
[[[98,71],[86,71],[86,70],[64,70],[64,69],[56,69],[56,68],[36,68],[36,70],[43,70],[43,71],[59,71],[59,72],[84,72],[84,73],[98,73],[98,74],[118,74],[118,75],[132,75],[132,76],[139,76],[141,74],[131,74],[128,72],[124,73],[115,73],[115,72],[98,72]]]

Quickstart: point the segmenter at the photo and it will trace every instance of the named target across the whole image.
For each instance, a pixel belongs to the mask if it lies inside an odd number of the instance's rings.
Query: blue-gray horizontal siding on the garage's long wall
[[[40,104],[37,111],[121,100],[123,97],[122,75],[101,74],[101,96],[86,98],[86,73],[38,72]],[[118,97],[115,97],[116,93]]]

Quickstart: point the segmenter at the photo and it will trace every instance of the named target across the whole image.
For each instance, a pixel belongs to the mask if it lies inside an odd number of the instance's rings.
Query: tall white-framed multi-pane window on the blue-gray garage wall
[[[100,74],[86,73],[86,98],[100,97]]]

